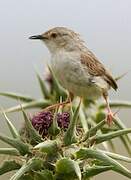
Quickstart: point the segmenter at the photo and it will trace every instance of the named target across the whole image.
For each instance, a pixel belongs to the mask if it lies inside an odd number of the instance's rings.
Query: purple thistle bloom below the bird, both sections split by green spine
[[[68,112],[57,113],[57,123],[61,129],[66,130],[70,123],[70,114]],[[44,138],[48,135],[48,130],[53,121],[53,113],[50,111],[40,112],[31,119],[33,127]]]

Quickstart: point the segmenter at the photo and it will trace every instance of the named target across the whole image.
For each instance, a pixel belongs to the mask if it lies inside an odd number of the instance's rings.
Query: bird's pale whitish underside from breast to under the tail
[[[59,51],[52,56],[51,65],[60,84],[75,96],[98,99],[109,89],[102,76],[89,74],[80,53]]]

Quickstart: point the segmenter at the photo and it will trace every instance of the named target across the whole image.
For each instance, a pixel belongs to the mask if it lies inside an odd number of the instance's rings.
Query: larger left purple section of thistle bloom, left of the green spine
[[[35,115],[31,121],[33,127],[44,137],[48,134],[48,129],[53,121],[53,115],[50,111],[40,112]]]

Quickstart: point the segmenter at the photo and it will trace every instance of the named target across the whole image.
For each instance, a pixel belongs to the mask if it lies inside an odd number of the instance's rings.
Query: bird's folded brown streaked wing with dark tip
[[[88,73],[92,76],[101,76],[115,90],[118,86],[112,75],[105,69],[104,65],[98,61],[96,56],[91,52],[81,54],[81,63],[86,65]]]

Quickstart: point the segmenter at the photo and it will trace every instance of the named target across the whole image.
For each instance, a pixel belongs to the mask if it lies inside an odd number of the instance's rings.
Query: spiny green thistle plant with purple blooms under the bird
[[[0,93],[21,102],[1,110],[12,137],[0,134],[0,140],[9,145],[0,148],[0,155],[10,157],[2,162],[0,175],[13,171],[10,180],[89,180],[105,171],[114,171],[131,179],[131,171],[123,165],[131,163],[131,128],[126,128],[117,115],[109,127],[103,102],[80,102],[75,98],[69,105],[52,111],[44,109],[64,101],[68,94],[51,69],[50,74],[46,81],[37,73],[42,98]],[[111,101],[110,106],[131,108],[131,102]],[[30,113],[32,108],[36,113]],[[7,116],[16,111],[23,114],[20,131]],[[116,152],[114,138],[119,138],[129,157]]]

